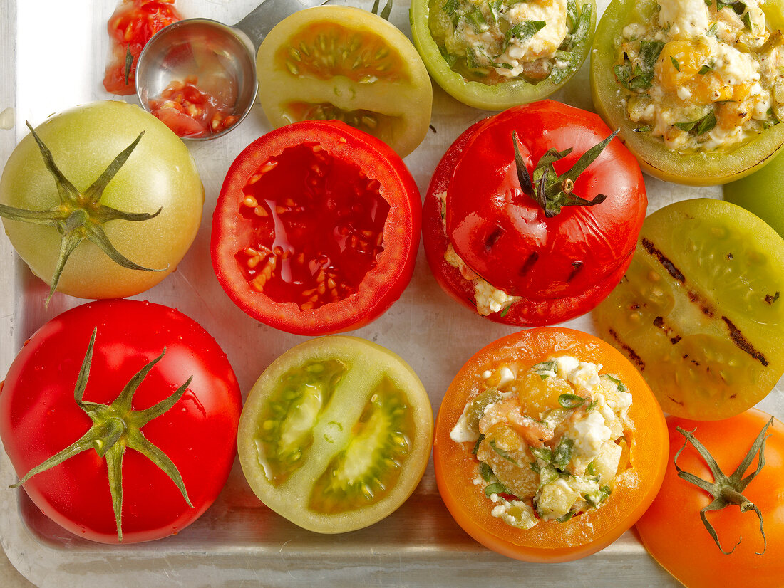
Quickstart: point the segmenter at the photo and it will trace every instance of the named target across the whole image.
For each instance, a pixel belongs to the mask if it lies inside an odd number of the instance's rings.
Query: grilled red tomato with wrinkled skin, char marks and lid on
[[[558,323],[597,305],[626,271],[648,206],[643,177],[626,147],[612,139],[569,186],[596,204],[564,206],[549,216],[521,188],[513,132],[535,185],[535,165],[548,150],[572,150],[553,164],[554,175],[562,175],[611,135],[597,115],[550,100],[474,124],[445,153],[430,181],[425,251],[441,287],[469,308],[477,308],[478,277],[517,297],[485,311],[490,319]],[[445,260],[450,244],[462,268]]]

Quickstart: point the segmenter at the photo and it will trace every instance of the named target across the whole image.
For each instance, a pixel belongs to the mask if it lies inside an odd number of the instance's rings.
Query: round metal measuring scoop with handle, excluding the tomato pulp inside
[[[198,88],[234,104],[237,121],[223,131],[197,137],[203,141],[229,132],[256,100],[256,52],[276,24],[297,10],[327,0],[264,0],[233,27],[206,18],[180,20],[162,28],[144,46],[136,62],[136,95],[145,110],[172,82],[198,78]]]

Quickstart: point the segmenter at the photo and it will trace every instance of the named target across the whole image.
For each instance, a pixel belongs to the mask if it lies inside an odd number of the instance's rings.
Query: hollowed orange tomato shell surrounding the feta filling
[[[491,514],[477,478],[473,443],[449,437],[463,407],[487,388],[483,373],[509,363],[528,367],[554,357],[573,355],[601,363],[626,384],[633,397],[632,422],[626,434],[629,467],[615,478],[615,488],[598,508],[575,514],[568,521],[539,520],[528,529],[506,525]],[[503,337],[477,352],[450,384],[438,412],[434,463],[441,498],[452,517],[479,543],[499,554],[525,561],[570,561],[593,554],[618,539],[652,502],[666,469],[667,431],[662,410],[637,370],[610,345],[576,330],[544,327]]]

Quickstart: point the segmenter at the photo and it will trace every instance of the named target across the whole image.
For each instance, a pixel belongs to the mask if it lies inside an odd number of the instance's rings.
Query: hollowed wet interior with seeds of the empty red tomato
[[[270,157],[245,184],[235,254],[252,288],[302,310],[354,294],[383,251],[389,204],[351,161],[305,143]]]

